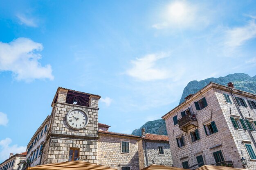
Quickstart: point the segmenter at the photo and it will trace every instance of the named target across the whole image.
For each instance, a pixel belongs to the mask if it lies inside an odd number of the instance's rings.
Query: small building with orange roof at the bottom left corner
[[[0,170],[17,170],[18,164],[26,159],[27,152],[10,154],[9,158],[0,163]]]

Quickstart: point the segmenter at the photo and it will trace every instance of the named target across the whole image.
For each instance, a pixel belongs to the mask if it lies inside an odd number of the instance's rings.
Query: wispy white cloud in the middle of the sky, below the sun
[[[166,53],[148,54],[142,58],[132,60],[132,68],[126,71],[126,74],[142,81],[162,80],[171,77],[166,68],[158,67],[156,62],[168,57]]]

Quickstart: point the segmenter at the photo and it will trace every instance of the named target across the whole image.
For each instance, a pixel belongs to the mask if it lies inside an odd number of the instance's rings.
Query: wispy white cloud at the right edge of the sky
[[[247,25],[231,28],[226,31],[225,45],[230,48],[242,46],[247,40],[256,37],[255,20],[250,20]]]

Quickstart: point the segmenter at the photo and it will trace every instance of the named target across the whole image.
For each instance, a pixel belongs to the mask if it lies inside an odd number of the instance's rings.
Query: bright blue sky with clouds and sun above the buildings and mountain
[[[25,150],[58,86],[101,95],[131,133],[189,81],[256,73],[256,2],[0,0],[0,161]]]

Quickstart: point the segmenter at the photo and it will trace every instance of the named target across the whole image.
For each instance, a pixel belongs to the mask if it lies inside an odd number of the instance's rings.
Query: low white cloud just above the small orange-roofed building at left
[[[25,152],[26,146],[18,146],[17,144],[11,145],[11,139],[9,137],[0,140],[0,160],[4,161],[9,158],[10,153],[22,153]]]

